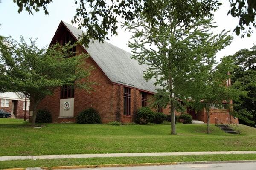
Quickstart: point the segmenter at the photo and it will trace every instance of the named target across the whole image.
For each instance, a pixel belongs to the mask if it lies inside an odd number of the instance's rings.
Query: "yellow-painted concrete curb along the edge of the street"
[[[59,170],[59,169],[79,169],[79,168],[103,168],[103,167],[140,167],[140,166],[160,166],[160,165],[182,165],[182,164],[223,164],[223,163],[248,163],[256,160],[240,161],[194,161],[194,162],[166,162],[166,163],[143,163],[143,164],[103,164],[103,165],[78,165],[78,166],[58,166],[42,167],[42,170]],[[29,168],[31,169],[31,168]],[[11,168],[3,170],[26,170],[26,168]]]

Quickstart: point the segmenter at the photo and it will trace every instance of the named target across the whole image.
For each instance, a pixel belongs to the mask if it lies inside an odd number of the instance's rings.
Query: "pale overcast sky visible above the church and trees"
[[[219,27],[214,32],[221,32],[222,29],[231,30],[230,34],[234,36],[234,39],[230,46],[227,46],[218,53],[218,58],[224,55],[232,55],[239,49],[250,48],[253,46],[253,43],[256,44],[256,30],[250,38],[241,38],[241,36],[236,36],[233,33],[233,29],[238,22],[233,17],[227,16],[227,12],[230,9],[228,1],[223,0],[223,3],[221,8],[215,12],[214,19]],[[45,15],[42,10],[34,12],[34,15],[29,15],[25,11],[19,14],[17,10],[18,7],[13,3],[13,0],[1,0],[0,35],[10,35],[15,40],[18,40],[20,35],[26,40],[29,37],[38,38],[38,46],[42,47],[49,45],[61,20],[71,24],[71,20],[76,12],[76,6],[73,0],[53,0],[53,3],[50,3],[48,6],[49,15]],[[119,28],[118,36],[110,37],[109,42],[131,52],[127,46],[129,37],[131,37],[129,32]]]

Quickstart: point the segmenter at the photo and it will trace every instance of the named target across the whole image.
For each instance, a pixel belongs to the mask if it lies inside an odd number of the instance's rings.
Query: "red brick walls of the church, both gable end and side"
[[[81,46],[76,46],[76,52],[84,52]],[[76,121],[76,116],[84,109],[93,107],[99,112],[103,123],[110,121],[133,122],[137,109],[141,107],[141,92],[138,89],[131,89],[131,116],[123,114],[123,86],[112,84],[101,69],[94,63],[92,58],[86,59],[86,64],[94,66],[94,69],[87,81],[96,82],[93,85],[93,91],[90,93],[86,90],[75,89],[74,97],[74,118],[58,118],[60,107],[60,88],[56,89],[53,96],[45,97],[38,105],[37,109],[47,109],[52,113],[53,122]],[[152,95],[148,94],[148,99]],[[33,105],[30,104],[32,110]],[[155,110],[154,108],[152,108]],[[169,106],[163,108],[164,114],[169,114]],[[180,115],[180,112],[176,112]],[[221,115],[220,115],[221,116]],[[205,121],[205,113],[199,116]]]

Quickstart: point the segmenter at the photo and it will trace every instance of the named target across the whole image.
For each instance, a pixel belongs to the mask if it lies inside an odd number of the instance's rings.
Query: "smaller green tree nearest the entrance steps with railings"
[[[206,63],[209,67],[202,69],[200,77],[195,77],[195,88],[199,88],[196,91],[192,91],[192,100],[188,103],[196,111],[205,109],[207,113],[207,133],[210,133],[210,109],[225,108],[224,104],[231,107],[231,100],[240,100],[241,95],[246,95],[241,89],[241,84],[235,82],[232,86],[227,84],[227,80],[230,79],[230,74],[235,68],[234,62],[230,57],[224,57],[217,66],[214,63]],[[200,93],[198,91],[200,90]],[[196,93],[194,93],[196,92]],[[227,108],[228,109],[228,108]],[[230,109],[230,112],[232,110]]]

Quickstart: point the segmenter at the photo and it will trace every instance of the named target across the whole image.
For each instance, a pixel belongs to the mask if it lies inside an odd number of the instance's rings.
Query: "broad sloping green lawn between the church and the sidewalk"
[[[256,150],[256,129],[240,125],[241,135],[205,124],[111,126],[46,124],[41,129],[22,120],[0,118],[0,156],[84,153]]]

